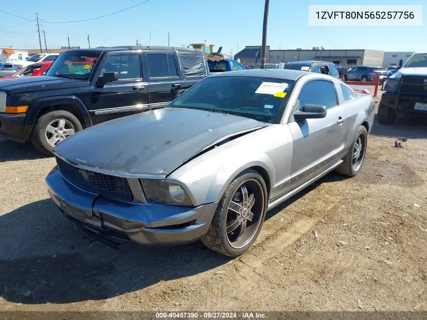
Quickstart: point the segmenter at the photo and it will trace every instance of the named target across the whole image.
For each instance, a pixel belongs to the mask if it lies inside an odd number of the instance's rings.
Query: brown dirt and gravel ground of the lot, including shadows
[[[0,139],[0,310],[426,311],[427,123],[414,120],[375,120],[360,174],[270,211],[236,259],[94,241],[48,197],[54,159]]]

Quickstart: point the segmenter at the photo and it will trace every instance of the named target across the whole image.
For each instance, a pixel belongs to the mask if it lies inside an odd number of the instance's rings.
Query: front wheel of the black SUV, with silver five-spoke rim
[[[37,119],[31,134],[31,142],[38,151],[52,156],[52,150],[58,142],[80,130],[81,123],[71,112],[52,111]]]

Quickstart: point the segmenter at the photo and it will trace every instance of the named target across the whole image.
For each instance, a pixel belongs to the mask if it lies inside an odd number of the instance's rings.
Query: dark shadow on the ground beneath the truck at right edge
[[[398,115],[392,125],[378,124],[375,115],[374,125],[370,134],[390,136],[392,138],[426,139],[427,117]]]

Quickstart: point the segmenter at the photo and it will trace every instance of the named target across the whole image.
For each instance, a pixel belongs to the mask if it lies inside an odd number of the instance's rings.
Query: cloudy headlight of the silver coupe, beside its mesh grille
[[[165,180],[141,179],[144,193],[149,202],[167,205],[193,206],[186,190]]]

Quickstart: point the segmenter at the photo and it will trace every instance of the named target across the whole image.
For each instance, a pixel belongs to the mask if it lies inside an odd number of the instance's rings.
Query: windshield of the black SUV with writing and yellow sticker
[[[87,80],[99,56],[98,52],[64,52],[54,61],[46,75]]]

